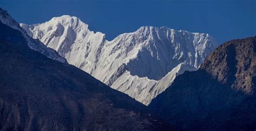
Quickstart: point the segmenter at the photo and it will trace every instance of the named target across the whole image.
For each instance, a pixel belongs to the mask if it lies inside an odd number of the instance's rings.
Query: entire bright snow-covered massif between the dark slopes
[[[148,105],[184,71],[194,71],[217,40],[205,33],[143,26],[111,41],[77,17],[20,24],[28,34],[105,84]]]

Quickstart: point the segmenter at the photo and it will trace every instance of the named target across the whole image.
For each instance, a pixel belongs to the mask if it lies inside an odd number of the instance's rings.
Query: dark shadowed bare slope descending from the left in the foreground
[[[0,130],[171,129],[128,95],[31,50],[21,32],[0,30]]]

